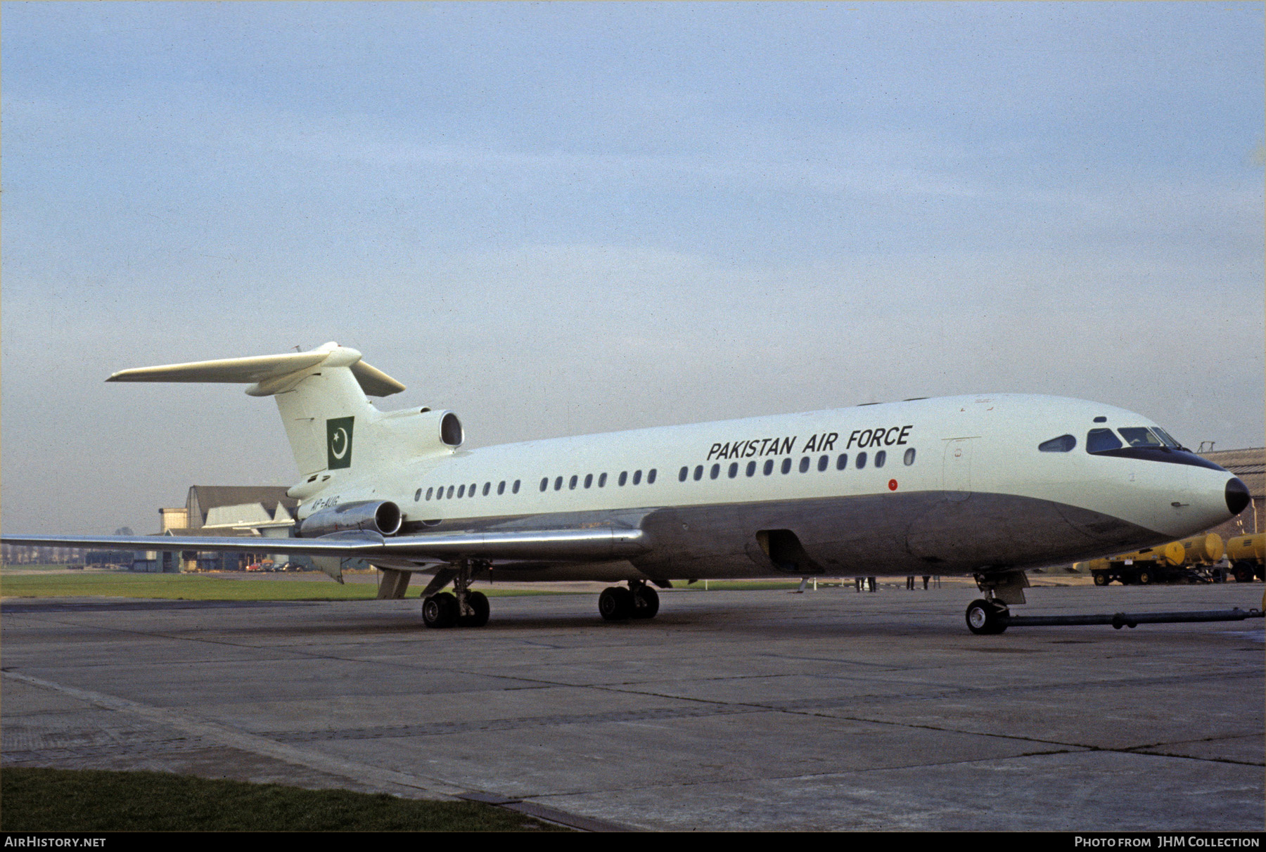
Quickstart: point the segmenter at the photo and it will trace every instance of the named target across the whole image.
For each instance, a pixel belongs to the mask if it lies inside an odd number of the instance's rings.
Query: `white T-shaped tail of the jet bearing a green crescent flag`
[[[251,382],[251,396],[276,396],[295,465],[303,476],[352,466],[356,419],[377,410],[366,395],[389,396],[404,385],[361,360],[356,349],[325,343],[308,352],[224,358],[123,370],[106,381]]]

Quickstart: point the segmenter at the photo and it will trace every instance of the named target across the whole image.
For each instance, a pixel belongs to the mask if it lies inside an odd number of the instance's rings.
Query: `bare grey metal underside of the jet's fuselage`
[[[1076,506],[1005,494],[922,491],[409,524],[403,533],[517,528],[641,528],[649,549],[595,563],[495,563],[506,580],[749,579],[970,575],[1148,547],[1169,537]],[[798,557],[770,558],[761,530],[790,530]],[[784,536],[784,538],[786,538]],[[375,560],[375,563],[380,563]],[[382,567],[408,567],[403,561]],[[418,566],[411,566],[417,570]],[[484,575],[481,571],[480,575]],[[486,576],[486,575],[485,575]]]

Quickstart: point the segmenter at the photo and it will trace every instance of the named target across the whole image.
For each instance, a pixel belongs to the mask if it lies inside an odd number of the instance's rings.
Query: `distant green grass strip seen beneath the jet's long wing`
[[[425,582],[410,589],[418,598]],[[480,586],[489,598],[561,594],[548,590],[510,590]],[[372,600],[376,584],[339,585],[328,577],[313,580],[225,580],[196,573],[58,573],[0,575],[5,598],[160,598],[167,600]]]

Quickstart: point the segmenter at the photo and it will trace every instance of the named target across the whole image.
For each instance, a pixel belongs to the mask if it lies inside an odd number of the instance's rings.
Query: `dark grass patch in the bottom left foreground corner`
[[[0,770],[5,832],[568,830],[475,801],[304,790],[165,772]]]

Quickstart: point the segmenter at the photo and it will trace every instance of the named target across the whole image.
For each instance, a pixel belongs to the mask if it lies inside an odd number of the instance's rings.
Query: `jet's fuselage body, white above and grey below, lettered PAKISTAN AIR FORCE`
[[[403,532],[614,520],[651,534],[653,552],[633,563],[663,579],[779,573],[755,546],[767,529],[795,533],[817,572],[1032,567],[1231,517],[1231,475],[1215,466],[1086,452],[1090,429],[1153,425],[1099,403],[999,394],[553,438],[334,471],[300,518],[392,500]],[[1075,447],[1038,449],[1060,435]],[[523,576],[587,576],[579,567]]]

